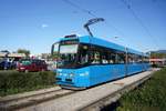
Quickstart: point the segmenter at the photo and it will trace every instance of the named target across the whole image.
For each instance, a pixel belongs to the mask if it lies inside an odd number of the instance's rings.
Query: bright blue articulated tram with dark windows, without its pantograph
[[[56,84],[63,88],[84,89],[149,68],[148,56],[90,36],[66,36],[52,46],[55,51]]]

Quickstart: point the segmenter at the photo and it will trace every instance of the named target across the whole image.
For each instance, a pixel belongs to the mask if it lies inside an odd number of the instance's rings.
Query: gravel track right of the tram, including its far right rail
[[[52,101],[27,107],[20,111],[100,111],[101,108],[117,101],[125,92],[149,79],[155,71],[146,71],[107,82]]]

